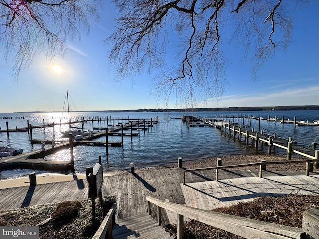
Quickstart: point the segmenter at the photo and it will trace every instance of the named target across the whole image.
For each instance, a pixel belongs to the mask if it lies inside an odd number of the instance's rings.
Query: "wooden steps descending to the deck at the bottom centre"
[[[113,228],[113,239],[172,239],[165,229],[148,213],[117,219]]]

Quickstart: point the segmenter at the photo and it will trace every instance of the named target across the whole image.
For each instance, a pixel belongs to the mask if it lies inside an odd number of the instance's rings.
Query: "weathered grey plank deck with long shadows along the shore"
[[[114,196],[117,203],[116,218],[126,218],[147,212],[146,196],[202,209],[224,207],[256,197],[282,196],[288,193],[319,195],[319,174],[304,176],[301,172],[268,172],[263,178],[251,170],[220,170],[219,181],[213,171],[191,174],[183,185],[183,170],[165,168],[124,173],[104,177],[103,196]],[[277,175],[277,176],[270,176]],[[286,176],[278,176],[286,175]],[[201,182],[200,182],[201,181]],[[0,181],[1,183],[1,181]],[[86,179],[39,184],[0,190],[0,210],[26,207],[43,203],[88,198]],[[164,213],[163,220],[174,220]]]

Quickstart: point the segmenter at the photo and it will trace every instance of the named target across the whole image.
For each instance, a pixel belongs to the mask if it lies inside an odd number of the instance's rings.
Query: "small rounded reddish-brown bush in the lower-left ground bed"
[[[55,212],[52,213],[52,219],[56,222],[68,222],[79,216],[80,207],[81,202],[79,201],[62,202],[57,206]]]

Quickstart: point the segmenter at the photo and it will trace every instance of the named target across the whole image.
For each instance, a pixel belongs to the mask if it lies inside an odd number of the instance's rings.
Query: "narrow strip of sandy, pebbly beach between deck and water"
[[[183,168],[206,168],[214,167],[217,165],[217,158],[222,159],[222,165],[235,165],[235,164],[244,164],[244,163],[253,163],[260,162],[260,160],[266,161],[285,161],[287,160],[286,156],[280,155],[250,155],[250,154],[238,154],[238,155],[227,155],[223,157],[208,157],[198,160],[187,160],[183,162]],[[305,157],[292,157],[292,160],[305,159]],[[288,160],[287,160],[288,161]],[[145,170],[160,170],[163,168],[175,168],[178,167],[178,162],[170,165],[154,166],[154,167],[145,167],[145,168],[135,168],[135,172],[143,172]],[[274,171],[304,171],[305,164],[275,164],[268,165],[268,169]],[[319,172],[318,169],[314,168],[314,172]],[[119,170],[119,171],[108,171],[103,172],[103,176],[110,176],[115,174],[126,174],[129,173],[128,170]],[[55,183],[55,182],[65,182],[72,180],[85,180],[85,173],[73,173],[73,174],[59,174],[59,173],[42,173],[36,175],[37,184],[46,184],[46,183]],[[14,188],[14,187],[23,187],[30,186],[29,177],[18,177],[18,178],[8,178],[0,180],[0,189]]]

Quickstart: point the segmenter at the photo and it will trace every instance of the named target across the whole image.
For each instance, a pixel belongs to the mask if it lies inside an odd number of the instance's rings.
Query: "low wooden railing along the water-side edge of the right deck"
[[[266,165],[270,165],[270,164],[306,163],[305,175],[309,176],[309,172],[312,172],[313,163],[314,162],[319,162],[319,159],[289,160],[289,161],[265,161],[265,160],[261,160],[261,162],[256,162],[256,163],[216,166],[216,167],[209,167],[209,168],[185,169],[185,170],[183,170],[183,172],[184,172],[183,183],[184,184],[186,183],[185,182],[186,173],[191,173],[191,172],[196,172],[196,171],[216,170],[216,181],[218,181],[218,170],[219,169],[240,168],[240,167],[248,167],[248,166],[259,166],[259,177],[262,177],[263,176],[263,170],[266,170]]]

